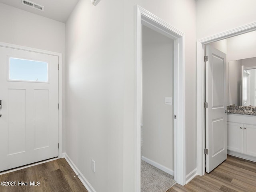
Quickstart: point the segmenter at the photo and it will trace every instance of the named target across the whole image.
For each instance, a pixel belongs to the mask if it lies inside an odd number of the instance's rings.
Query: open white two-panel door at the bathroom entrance
[[[206,172],[227,158],[226,54],[206,46]]]

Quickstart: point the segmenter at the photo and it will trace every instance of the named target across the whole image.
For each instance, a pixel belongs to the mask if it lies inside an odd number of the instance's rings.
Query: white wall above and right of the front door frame
[[[65,151],[65,24],[0,3],[0,42],[62,53],[62,150]]]

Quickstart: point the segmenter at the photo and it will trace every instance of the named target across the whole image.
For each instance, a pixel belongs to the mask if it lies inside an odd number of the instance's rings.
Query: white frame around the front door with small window
[[[58,70],[58,102],[59,102],[59,110],[58,110],[58,143],[59,143],[59,150],[58,150],[58,158],[62,158],[62,54],[57,52],[51,52],[36,48],[30,48],[26,46],[20,46],[15,44],[9,44],[5,42],[0,42],[1,47],[6,48],[13,48],[18,50],[24,50],[24,51],[30,51],[35,53],[41,53],[41,54],[48,54],[53,56],[58,56],[58,64],[59,64],[59,70]],[[56,104],[56,107],[58,107],[58,104]]]

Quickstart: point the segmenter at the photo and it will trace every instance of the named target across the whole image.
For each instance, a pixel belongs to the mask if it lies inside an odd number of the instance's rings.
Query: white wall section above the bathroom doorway
[[[255,6],[255,0],[197,0],[197,39],[256,22]]]

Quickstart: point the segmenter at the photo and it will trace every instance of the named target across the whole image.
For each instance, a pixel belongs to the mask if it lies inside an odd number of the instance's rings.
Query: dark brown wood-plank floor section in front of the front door
[[[88,192],[64,158],[0,175],[0,182],[16,181],[16,186],[2,186],[0,192]],[[30,186],[39,181],[40,186]],[[18,186],[28,182],[28,186]]]

